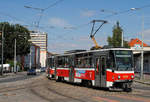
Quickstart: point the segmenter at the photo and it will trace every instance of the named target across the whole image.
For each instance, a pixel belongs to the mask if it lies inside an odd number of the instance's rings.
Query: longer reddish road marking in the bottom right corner
[[[128,100],[134,100],[134,101],[142,101],[142,102],[150,102],[150,99],[148,98],[142,98],[142,97],[135,97],[135,96],[122,96],[122,95],[117,95],[115,97],[118,98],[123,98],[123,99],[128,99]]]

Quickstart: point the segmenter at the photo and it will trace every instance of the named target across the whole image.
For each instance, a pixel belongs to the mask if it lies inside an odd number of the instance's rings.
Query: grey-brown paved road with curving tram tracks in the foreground
[[[23,75],[22,75],[23,76]],[[24,75],[25,76],[25,75]],[[150,86],[134,83],[133,92],[109,92],[49,80],[45,74],[0,84],[0,102],[150,102]]]

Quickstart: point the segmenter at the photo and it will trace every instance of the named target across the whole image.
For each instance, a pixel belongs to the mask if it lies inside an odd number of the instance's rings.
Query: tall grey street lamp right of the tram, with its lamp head
[[[140,8],[131,8],[131,10],[139,10]],[[144,39],[144,16],[142,18],[142,49],[141,49],[141,71],[140,71],[140,79],[143,79],[143,59],[144,59],[144,50],[143,50],[143,39]]]

